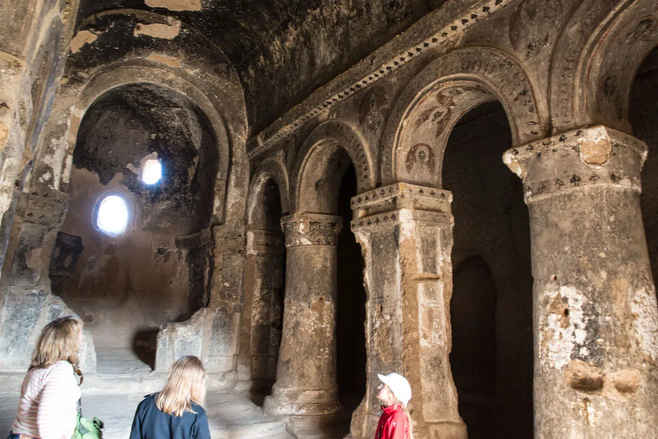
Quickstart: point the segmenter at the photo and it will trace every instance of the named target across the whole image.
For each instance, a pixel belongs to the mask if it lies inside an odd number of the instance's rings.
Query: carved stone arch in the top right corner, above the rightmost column
[[[590,124],[632,134],[630,90],[642,61],[657,45],[655,1],[582,2],[553,55],[553,134]]]

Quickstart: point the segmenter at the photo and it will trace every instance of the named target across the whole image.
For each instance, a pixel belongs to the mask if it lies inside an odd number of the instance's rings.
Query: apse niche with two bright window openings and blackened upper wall
[[[130,84],[86,112],[50,275],[91,330],[99,374],[153,367],[159,326],[207,305],[217,163],[210,122],[174,91]]]

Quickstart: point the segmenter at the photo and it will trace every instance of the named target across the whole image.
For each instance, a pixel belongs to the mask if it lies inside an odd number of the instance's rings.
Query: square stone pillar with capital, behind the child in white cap
[[[450,192],[397,183],[352,199],[352,230],[365,250],[367,390],[351,434],[374,437],[378,373],[403,374],[417,439],[467,438],[450,370]]]

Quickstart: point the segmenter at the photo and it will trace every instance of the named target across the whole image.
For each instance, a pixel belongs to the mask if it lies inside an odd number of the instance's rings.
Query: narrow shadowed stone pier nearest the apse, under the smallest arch
[[[280,230],[249,227],[238,378],[274,380],[281,340],[279,303],[286,247]]]

